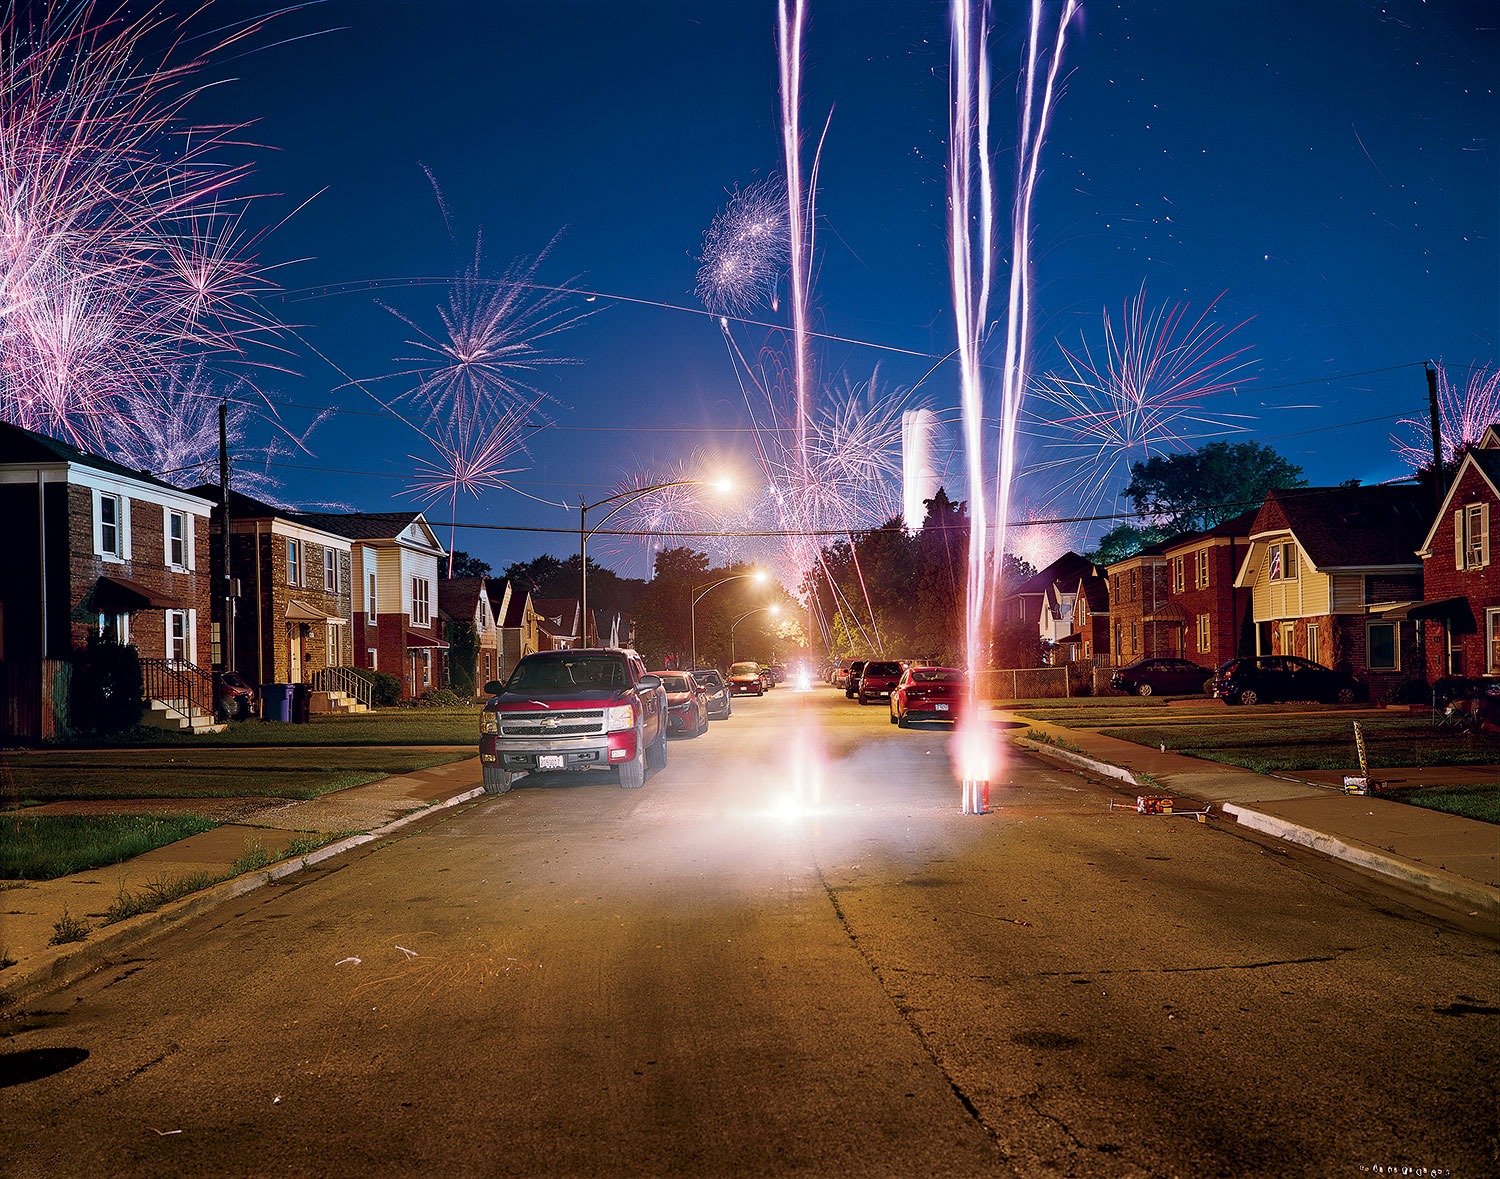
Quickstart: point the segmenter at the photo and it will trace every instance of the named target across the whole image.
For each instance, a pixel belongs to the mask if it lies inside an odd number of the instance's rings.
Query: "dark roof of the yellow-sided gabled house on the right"
[[[1431,524],[1425,502],[1414,486],[1274,490],[1251,536],[1290,531],[1320,570],[1414,566]]]

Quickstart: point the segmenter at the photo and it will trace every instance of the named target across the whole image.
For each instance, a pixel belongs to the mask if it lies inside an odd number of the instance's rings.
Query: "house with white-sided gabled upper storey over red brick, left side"
[[[447,686],[438,616],[438,561],[447,556],[420,512],[304,513],[312,528],[348,538],[354,666],[388,672],[412,700]]]

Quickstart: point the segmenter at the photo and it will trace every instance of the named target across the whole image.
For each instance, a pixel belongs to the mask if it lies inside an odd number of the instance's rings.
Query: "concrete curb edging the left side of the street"
[[[80,978],[84,978],[94,970],[104,969],[117,954],[120,954],[120,951],[148,940],[158,932],[165,930],[178,921],[195,916],[196,914],[212,909],[216,904],[222,904],[226,900],[243,897],[246,892],[254,892],[256,888],[280,880],[291,876],[294,872],[302,872],[314,864],[321,864],[324,860],[332,860],[333,856],[342,855],[344,852],[352,850],[364,843],[384,838],[393,831],[406,826],[406,824],[412,824],[417,819],[456,807],[462,802],[468,802],[483,794],[484,788],[476,786],[464,794],[458,794],[452,798],[444,798],[438,802],[430,802],[424,807],[408,812],[400,818],[392,819],[384,826],[376,826],[372,831],[363,831],[358,836],[348,836],[346,838],[324,844],[315,852],[308,852],[308,855],[300,855],[296,860],[285,860],[268,868],[260,868],[256,872],[244,873],[243,876],[236,876],[232,880],[224,880],[213,888],[204,888],[202,891],[192,892],[182,900],[172,902],[171,904],[164,904],[154,912],[128,918],[117,926],[108,926],[108,933],[92,934],[87,944],[80,942],[76,945],[57,946],[50,952],[39,954],[34,962],[27,963],[22,974],[0,980],[0,1011],[20,1006],[33,992],[45,993],[58,990],[70,982],[76,982]]]

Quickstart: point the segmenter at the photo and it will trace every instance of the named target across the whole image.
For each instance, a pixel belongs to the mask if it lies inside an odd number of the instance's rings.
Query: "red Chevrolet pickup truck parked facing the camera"
[[[490,794],[558,770],[618,768],[636,789],[666,765],[666,690],[634,651],[540,651],[484,692],[478,764]]]

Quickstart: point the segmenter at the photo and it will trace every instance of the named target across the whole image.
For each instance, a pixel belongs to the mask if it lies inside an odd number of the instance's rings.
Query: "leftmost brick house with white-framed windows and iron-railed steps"
[[[212,504],[0,423],[0,740],[68,728],[62,664],[90,634],[132,644],[162,723],[213,714]],[[147,717],[150,720],[150,717]]]

